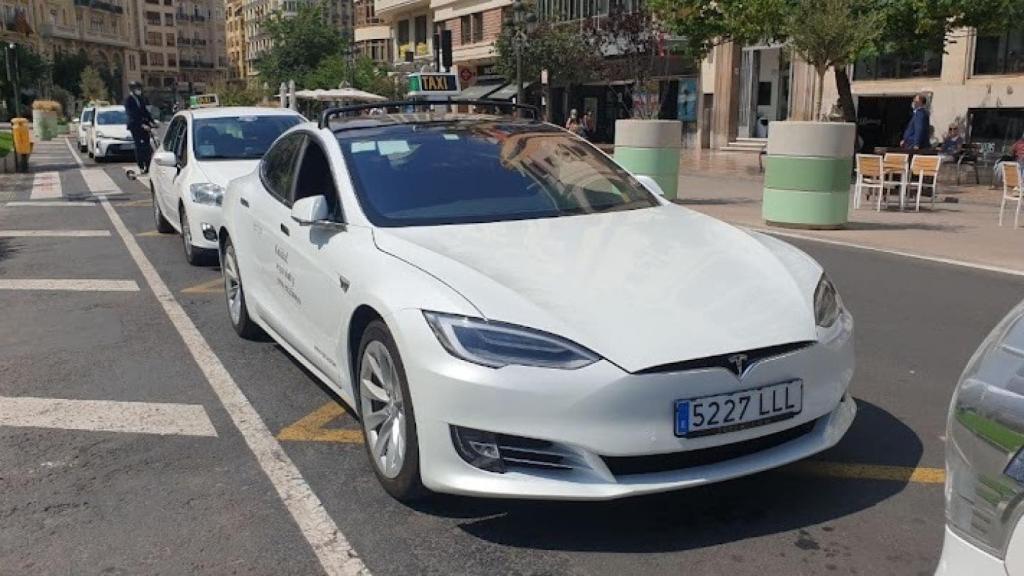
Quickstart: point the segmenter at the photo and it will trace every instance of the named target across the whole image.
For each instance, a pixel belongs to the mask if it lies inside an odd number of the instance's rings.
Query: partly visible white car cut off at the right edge
[[[1024,302],[985,338],[946,425],[946,531],[937,576],[1024,575]]]

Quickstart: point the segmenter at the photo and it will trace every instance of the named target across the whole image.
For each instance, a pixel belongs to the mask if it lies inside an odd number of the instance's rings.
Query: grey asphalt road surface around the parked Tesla
[[[52,154],[42,169],[58,172],[62,199],[86,204],[0,206],[0,418],[22,416],[4,415],[12,399],[118,404],[76,405],[47,426],[0,420],[0,574],[323,573],[306,531],[90,194],[95,176],[87,181],[74,159]],[[824,264],[856,321],[859,413],[835,449],[746,479],[607,503],[438,496],[409,507],[378,487],[356,422],[330,393],[274,343],[234,335],[219,271],[187,265],[180,238],[154,232],[145,188],[120,165],[86,161],[93,169],[111,176],[120,193],[109,197],[114,212],[378,575],[931,574],[950,393],[977,344],[1024,295],[1017,277],[797,243]],[[2,178],[0,203],[46,202],[32,199],[32,178]],[[3,238],[9,231],[45,232]],[[73,279],[120,283],[78,291],[18,284]],[[127,290],[131,283],[137,290]],[[131,417],[140,406],[188,414],[177,421],[193,427],[96,429],[114,418],[106,409],[140,425]],[[67,429],[82,414],[82,429]]]

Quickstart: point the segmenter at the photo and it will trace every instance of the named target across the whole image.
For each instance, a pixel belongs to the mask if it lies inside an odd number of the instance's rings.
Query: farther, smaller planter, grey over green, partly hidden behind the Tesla
[[[678,120],[616,120],[615,162],[634,174],[654,178],[665,197],[675,200],[682,132]]]

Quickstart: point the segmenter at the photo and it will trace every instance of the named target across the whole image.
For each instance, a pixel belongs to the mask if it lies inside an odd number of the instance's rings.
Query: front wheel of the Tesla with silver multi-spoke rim
[[[427,491],[420,479],[416,413],[398,346],[380,320],[371,322],[359,342],[359,418],[374,475],[396,500],[409,502]]]

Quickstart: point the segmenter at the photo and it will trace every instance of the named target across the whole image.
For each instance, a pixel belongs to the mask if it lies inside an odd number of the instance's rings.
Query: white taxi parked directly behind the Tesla
[[[153,156],[150,188],[157,230],[181,234],[189,263],[216,258],[227,181],[253,171],[273,140],[302,120],[288,109],[242,107],[174,116]]]

